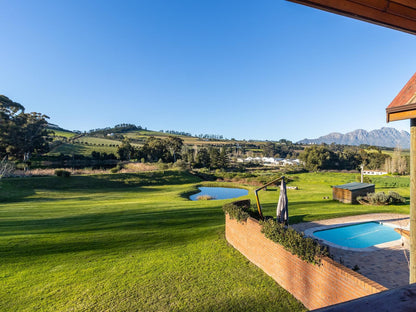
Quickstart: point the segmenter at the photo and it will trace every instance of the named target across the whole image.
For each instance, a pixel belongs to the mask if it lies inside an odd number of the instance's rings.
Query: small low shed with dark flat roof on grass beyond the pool
[[[332,187],[332,197],[345,204],[357,204],[358,196],[375,192],[375,185],[370,183],[351,182]]]

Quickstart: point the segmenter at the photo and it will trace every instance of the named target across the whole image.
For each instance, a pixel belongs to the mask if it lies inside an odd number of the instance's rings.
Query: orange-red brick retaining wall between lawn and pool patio
[[[325,257],[313,265],[292,255],[261,233],[259,222],[239,223],[226,214],[227,241],[270,275],[308,309],[318,309],[387,290],[384,286]]]

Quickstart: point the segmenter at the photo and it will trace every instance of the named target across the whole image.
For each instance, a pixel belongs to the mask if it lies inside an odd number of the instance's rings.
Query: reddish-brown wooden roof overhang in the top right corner
[[[387,0],[288,0],[416,35],[416,9]],[[401,0],[404,3],[404,0]]]

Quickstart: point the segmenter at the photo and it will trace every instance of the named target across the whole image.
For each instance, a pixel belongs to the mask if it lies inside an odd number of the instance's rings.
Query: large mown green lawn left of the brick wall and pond
[[[168,171],[0,182],[1,311],[300,311]],[[265,299],[266,298],[266,299]]]

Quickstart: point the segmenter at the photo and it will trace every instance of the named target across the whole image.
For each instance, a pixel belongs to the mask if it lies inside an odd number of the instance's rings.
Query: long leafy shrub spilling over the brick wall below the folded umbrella
[[[282,245],[287,251],[297,255],[306,262],[320,264],[321,257],[329,254],[328,248],[319,245],[316,240],[305,237],[303,233],[286,227],[273,219],[260,221],[260,224],[262,226],[261,232],[268,239]]]

